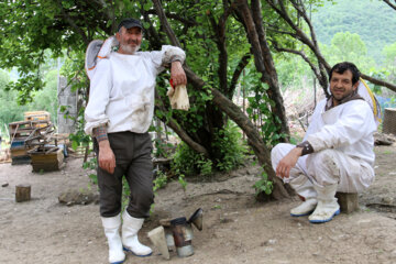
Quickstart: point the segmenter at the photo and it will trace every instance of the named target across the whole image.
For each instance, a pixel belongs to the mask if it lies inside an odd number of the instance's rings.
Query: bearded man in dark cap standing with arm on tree
[[[85,111],[87,134],[94,135],[98,156],[100,216],[109,244],[109,262],[123,263],[123,250],[139,256],[152,250],[138,240],[144,218],[153,204],[152,141],[147,132],[154,112],[155,78],[170,65],[175,86],[186,85],[182,64],[183,50],[163,46],[158,52],[138,52],[143,26],[139,20],[124,19],[118,26],[118,51],[108,48],[106,57],[98,55],[90,79],[90,99]],[[109,40],[108,40],[109,41]],[[102,51],[101,51],[102,52]],[[106,52],[105,52],[106,53]],[[122,177],[125,176],[131,196],[122,212]]]

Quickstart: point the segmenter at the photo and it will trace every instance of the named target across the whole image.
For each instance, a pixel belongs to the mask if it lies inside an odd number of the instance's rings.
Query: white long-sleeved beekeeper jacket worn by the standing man
[[[92,129],[107,125],[108,133],[145,133],[154,114],[156,76],[175,56],[183,64],[184,51],[164,45],[158,52],[109,52],[98,59],[90,78],[85,132],[92,134]]]

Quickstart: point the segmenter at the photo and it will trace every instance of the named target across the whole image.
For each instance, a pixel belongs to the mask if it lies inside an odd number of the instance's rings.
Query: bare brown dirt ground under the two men
[[[396,263],[396,143],[376,146],[376,180],[360,195],[360,210],[341,213],[331,222],[310,224],[307,217],[292,218],[297,197],[256,202],[251,187],[260,168],[177,182],[157,191],[154,212],[140,232],[160,219],[189,217],[204,209],[204,230],[194,232],[193,256],[172,253],[164,260],[128,255],[125,263]],[[108,263],[108,249],[99,207],[65,206],[58,196],[90,185],[81,158],[66,158],[61,172],[32,173],[31,165],[0,164],[0,263]],[[30,184],[32,200],[14,201],[15,185]],[[96,187],[92,187],[96,189]]]

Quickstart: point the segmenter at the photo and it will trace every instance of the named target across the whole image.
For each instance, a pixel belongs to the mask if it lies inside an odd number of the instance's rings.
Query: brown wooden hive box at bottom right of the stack
[[[40,147],[30,152],[33,172],[59,170],[64,164],[63,150],[59,147]]]

